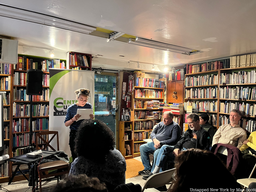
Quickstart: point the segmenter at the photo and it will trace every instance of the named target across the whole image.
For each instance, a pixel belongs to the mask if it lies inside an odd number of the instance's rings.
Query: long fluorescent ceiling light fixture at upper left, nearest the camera
[[[87,26],[82,23],[61,19],[55,16],[46,15],[43,13],[37,13],[37,12],[28,11],[20,8],[6,6],[2,4],[0,4],[0,16],[9,17],[9,18],[18,19],[18,20],[25,20],[33,23],[38,23],[41,25],[52,26],[56,28],[69,30],[69,31],[76,31],[84,34],[89,34],[92,31],[96,30],[96,28]]]

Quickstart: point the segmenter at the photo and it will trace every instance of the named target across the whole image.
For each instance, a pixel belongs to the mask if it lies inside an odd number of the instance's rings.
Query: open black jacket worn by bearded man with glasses
[[[174,146],[175,149],[182,149],[183,144],[191,140],[193,137],[192,135],[192,130],[188,129],[180,138],[178,143]],[[210,134],[205,131],[204,129],[200,128],[198,132],[196,133],[196,148],[198,149],[204,149],[204,150],[209,150],[210,147]]]

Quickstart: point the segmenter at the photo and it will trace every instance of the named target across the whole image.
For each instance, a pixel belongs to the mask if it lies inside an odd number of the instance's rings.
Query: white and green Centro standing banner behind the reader
[[[50,75],[50,109],[49,130],[59,132],[60,150],[71,157],[69,142],[69,127],[64,124],[68,106],[77,102],[75,90],[86,88],[91,97],[88,103],[94,110],[94,71],[49,69]],[[54,145],[55,146],[55,145]]]

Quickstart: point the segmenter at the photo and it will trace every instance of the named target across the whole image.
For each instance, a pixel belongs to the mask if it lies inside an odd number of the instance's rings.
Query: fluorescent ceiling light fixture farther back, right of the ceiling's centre
[[[186,47],[162,43],[162,42],[145,39],[145,38],[140,38],[140,37],[137,37],[135,39],[135,41],[133,41],[130,38],[128,43],[143,46],[143,47],[153,48],[153,49],[159,49],[159,50],[163,50],[163,51],[186,54],[186,55],[192,55],[195,53],[202,52],[202,51],[198,51],[198,50],[194,50],[194,49],[190,49],[190,48],[186,48]]]

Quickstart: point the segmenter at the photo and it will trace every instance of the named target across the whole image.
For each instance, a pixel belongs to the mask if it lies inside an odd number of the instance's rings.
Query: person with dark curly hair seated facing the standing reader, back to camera
[[[126,162],[114,149],[113,132],[100,120],[84,120],[75,139],[77,158],[71,164],[69,175],[86,174],[97,177],[108,191],[125,183]]]

